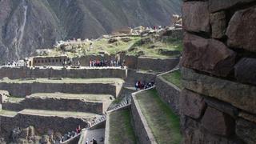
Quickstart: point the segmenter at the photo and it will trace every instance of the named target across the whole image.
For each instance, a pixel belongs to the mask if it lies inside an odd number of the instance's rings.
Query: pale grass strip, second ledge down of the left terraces
[[[29,98],[85,99],[86,101],[94,101],[94,102],[110,101],[110,97],[113,98],[112,95],[108,95],[108,94],[63,94],[63,93],[38,93],[38,94],[31,94],[29,96]]]

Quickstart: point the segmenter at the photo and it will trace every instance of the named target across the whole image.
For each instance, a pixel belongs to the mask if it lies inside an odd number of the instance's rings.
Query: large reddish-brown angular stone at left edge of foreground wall
[[[182,65],[218,76],[230,74],[236,54],[222,42],[186,34]]]

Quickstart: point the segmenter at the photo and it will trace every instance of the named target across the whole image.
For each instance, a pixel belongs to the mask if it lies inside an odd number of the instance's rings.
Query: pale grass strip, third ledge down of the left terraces
[[[54,110],[30,110],[25,109],[18,114],[40,115],[45,117],[62,117],[62,118],[94,118],[96,114],[82,113],[73,111],[54,111]]]

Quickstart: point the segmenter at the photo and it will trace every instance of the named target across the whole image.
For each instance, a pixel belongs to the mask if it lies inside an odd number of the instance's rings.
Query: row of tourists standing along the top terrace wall
[[[122,63],[120,61],[115,61],[115,60],[90,60],[89,62],[89,66],[90,67],[118,67],[121,66],[122,68],[125,65],[125,61],[123,61]]]

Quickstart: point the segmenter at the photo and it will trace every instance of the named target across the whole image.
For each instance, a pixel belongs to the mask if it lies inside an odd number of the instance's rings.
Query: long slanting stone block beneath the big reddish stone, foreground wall
[[[242,110],[256,114],[256,86],[198,74],[194,70],[186,68],[182,69],[182,78],[183,86],[186,89],[218,98]]]

